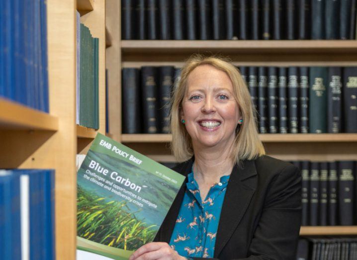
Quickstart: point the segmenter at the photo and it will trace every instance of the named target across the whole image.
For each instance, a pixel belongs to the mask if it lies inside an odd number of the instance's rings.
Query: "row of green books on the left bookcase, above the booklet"
[[[94,129],[99,128],[98,50],[99,39],[80,22],[77,11],[76,123]]]

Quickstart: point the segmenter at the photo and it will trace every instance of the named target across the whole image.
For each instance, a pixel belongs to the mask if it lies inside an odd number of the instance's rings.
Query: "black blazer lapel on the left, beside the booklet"
[[[184,175],[186,177],[186,179],[183,181],[182,186],[178,191],[178,195],[176,196],[176,198],[175,198],[175,200],[174,200],[174,202],[173,202],[173,204],[172,204],[172,206],[171,206],[171,208],[162,224],[160,241],[170,243],[171,235],[174,231],[175,224],[176,224],[176,221],[173,221],[173,220],[176,220],[176,218],[178,216],[178,212],[181,207],[184,192],[186,190],[187,175],[191,172],[192,163],[193,163],[193,159],[187,161],[186,163],[181,165],[181,167],[173,169],[174,171]]]

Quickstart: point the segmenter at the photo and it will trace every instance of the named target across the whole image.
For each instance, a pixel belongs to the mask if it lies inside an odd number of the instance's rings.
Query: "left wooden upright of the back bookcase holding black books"
[[[120,42],[120,1],[106,0],[105,25],[111,34],[111,46],[106,49],[108,70],[108,121],[111,137],[121,139],[121,42]]]

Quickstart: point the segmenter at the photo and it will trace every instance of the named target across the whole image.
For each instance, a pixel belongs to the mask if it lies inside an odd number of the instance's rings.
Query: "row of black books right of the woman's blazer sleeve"
[[[302,226],[357,224],[357,161],[292,163],[302,174]]]

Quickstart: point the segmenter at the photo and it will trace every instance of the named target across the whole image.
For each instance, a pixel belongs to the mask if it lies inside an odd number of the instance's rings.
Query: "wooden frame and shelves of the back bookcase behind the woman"
[[[236,66],[357,66],[356,40],[120,40],[120,2],[106,1],[106,26],[112,32],[106,51],[109,132],[113,139],[155,161],[173,162],[170,134],[121,133],[121,69],[181,67],[193,53],[229,56]],[[119,29],[113,30],[119,25]],[[114,97],[115,95],[115,97]],[[110,99],[111,98],[111,99]],[[113,102],[114,100],[114,102]],[[281,160],[356,160],[357,133],[261,134],[267,153]],[[302,236],[357,235],[357,226],[301,227]]]

